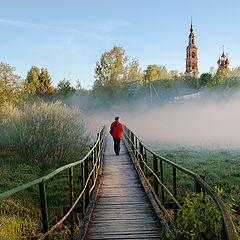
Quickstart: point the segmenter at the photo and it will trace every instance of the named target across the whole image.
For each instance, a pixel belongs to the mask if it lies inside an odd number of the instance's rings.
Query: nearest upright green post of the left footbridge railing
[[[44,180],[39,183],[39,191],[40,191],[40,205],[41,205],[41,212],[42,212],[42,225],[43,225],[43,232],[46,233],[48,231],[48,212],[47,212],[47,195],[46,195],[46,187]],[[46,236],[47,240],[49,240],[49,235]]]

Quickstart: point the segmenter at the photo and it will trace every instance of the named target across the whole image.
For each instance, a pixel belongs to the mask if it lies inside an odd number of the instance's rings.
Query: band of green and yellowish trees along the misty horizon
[[[137,60],[130,61],[125,50],[117,46],[104,52],[96,62],[95,82],[90,90],[82,88],[79,81],[72,86],[67,79],[54,87],[46,68],[31,67],[24,80],[14,71],[8,64],[0,64],[0,106],[4,102],[21,106],[39,100],[61,100],[82,109],[108,108],[139,100],[159,105],[199,91],[205,96],[226,97],[240,87],[240,67],[211,69],[200,76],[167,71],[165,66],[156,64],[142,70]]]

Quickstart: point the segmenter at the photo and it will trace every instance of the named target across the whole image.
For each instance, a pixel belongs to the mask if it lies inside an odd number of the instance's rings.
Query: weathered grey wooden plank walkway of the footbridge
[[[161,235],[125,144],[121,141],[116,156],[108,134],[102,186],[86,239],[162,239]]]

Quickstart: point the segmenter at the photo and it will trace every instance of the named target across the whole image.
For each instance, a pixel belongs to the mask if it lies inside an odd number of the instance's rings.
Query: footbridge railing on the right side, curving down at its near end
[[[233,224],[232,218],[222,201],[219,195],[207,184],[206,181],[203,180],[195,172],[192,172],[182,166],[169,161],[168,159],[158,155],[157,153],[153,152],[149,149],[143,142],[130,130],[124,125],[124,139],[125,143],[128,145],[129,150],[132,152],[135,163],[142,173],[145,182],[147,183],[148,187],[150,188],[156,202],[158,203],[159,207],[165,213],[167,219],[171,221],[171,216],[167,212],[166,208],[174,209],[174,218],[177,218],[177,211],[181,207],[181,203],[178,201],[177,196],[177,170],[182,172],[183,174],[189,176],[193,183],[194,183],[194,191],[196,193],[200,193],[201,191],[205,191],[208,195],[216,203],[218,209],[222,215],[222,233],[221,239],[228,239],[228,240],[237,240],[238,234],[236,232],[235,226]],[[153,161],[153,166],[150,166],[150,156]],[[164,173],[164,164],[167,164],[169,167],[172,168],[172,191],[169,187],[166,186],[165,182],[165,174]],[[153,183],[149,181],[149,177],[153,177]],[[161,189],[161,191],[159,191]],[[165,193],[167,193],[171,199],[173,200],[173,204],[165,202]]]

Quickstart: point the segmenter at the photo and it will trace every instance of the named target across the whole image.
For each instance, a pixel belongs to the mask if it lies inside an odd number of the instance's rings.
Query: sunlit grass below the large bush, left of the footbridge
[[[55,170],[57,165],[47,170],[0,155],[0,192],[20,186]],[[80,193],[79,168],[74,168],[75,198]],[[46,183],[48,214],[50,227],[63,216],[63,207],[69,206],[68,169],[56,175]],[[79,205],[78,205],[79,206]],[[79,215],[76,215],[76,230],[80,226]],[[0,239],[37,239],[43,232],[41,226],[41,211],[38,185],[21,191],[0,202]],[[70,222],[66,220],[52,239],[69,239]]]

